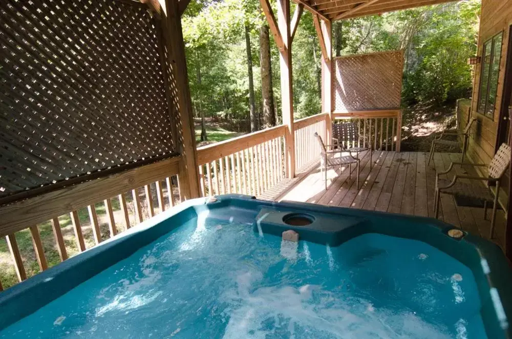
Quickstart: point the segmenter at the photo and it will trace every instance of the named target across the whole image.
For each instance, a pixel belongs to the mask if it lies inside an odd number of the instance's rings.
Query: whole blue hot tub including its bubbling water
[[[2,292],[0,337],[511,337],[502,252],[452,228],[190,200]]]

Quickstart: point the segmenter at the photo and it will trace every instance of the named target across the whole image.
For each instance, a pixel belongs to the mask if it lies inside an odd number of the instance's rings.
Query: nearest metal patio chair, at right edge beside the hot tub
[[[452,171],[454,165],[470,165],[484,167],[488,166],[487,177],[469,176],[469,175],[458,175],[456,174],[452,180],[439,179],[439,175],[448,174]],[[490,239],[494,235],[494,226],[496,223],[496,209],[498,205],[498,196],[500,194],[500,180],[505,174],[507,167],[510,165],[510,146],[502,143],[500,149],[494,156],[493,160],[489,165],[486,164],[472,164],[464,162],[452,162],[450,166],[444,172],[436,173],[436,195],[435,195],[435,214],[436,218],[439,215],[439,200],[441,199],[441,193],[450,194],[452,196],[464,197],[464,198],[477,198],[484,200],[484,219],[487,218],[487,203],[493,202],[493,217],[490,221]],[[465,183],[459,181],[459,179],[469,179],[472,183]],[[479,185],[475,181],[484,181],[485,186]],[[496,192],[493,196],[490,192],[489,184],[494,183],[496,185]]]

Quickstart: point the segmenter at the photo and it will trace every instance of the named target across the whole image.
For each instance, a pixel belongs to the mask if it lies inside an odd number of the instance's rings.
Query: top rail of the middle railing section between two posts
[[[198,165],[204,165],[233,153],[243,151],[267,140],[284,136],[285,130],[285,125],[279,125],[267,130],[245,134],[211,145],[198,147],[197,163]]]

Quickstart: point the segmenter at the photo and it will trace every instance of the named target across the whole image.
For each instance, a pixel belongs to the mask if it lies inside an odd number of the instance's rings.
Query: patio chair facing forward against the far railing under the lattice
[[[355,122],[342,122],[332,124],[332,143],[344,152],[356,153],[359,158],[360,152],[370,152],[370,168],[372,168],[372,142],[370,136],[366,138],[359,135],[359,128]],[[350,147],[351,144],[362,145]]]

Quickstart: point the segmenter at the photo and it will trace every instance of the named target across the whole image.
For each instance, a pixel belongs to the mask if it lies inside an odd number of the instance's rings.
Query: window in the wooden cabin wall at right
[[[494,116],[494,108],[496,105],[502,40],[503,32],[489,39],[483,45],[478,112],[490,118]]]

